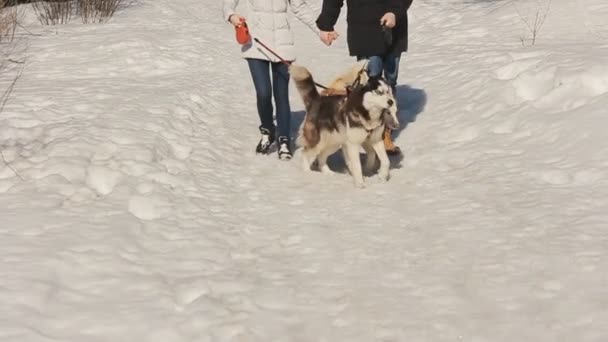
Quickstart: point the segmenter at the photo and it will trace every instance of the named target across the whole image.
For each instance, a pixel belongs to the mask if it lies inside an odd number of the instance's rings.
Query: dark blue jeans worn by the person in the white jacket
[[[284,63],[272,63],[263,59],[247,58],[251,78],[255,87],[260,128],[265,128],[272,135],[288,137],[291,120],[289,106],[289,69]],[[270,71],[272,69],[272,82]],[[272,96],[277,108],[277,127],[272,116]]]

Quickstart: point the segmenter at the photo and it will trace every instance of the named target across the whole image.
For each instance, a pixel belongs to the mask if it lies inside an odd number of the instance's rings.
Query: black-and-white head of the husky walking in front
[[[355,85],[352,91],[361,95],[361,104],[369,112],[371,119],[381,119],[391,129],[399,128],[397,100],[383,77],[368,76],[366,82]]]

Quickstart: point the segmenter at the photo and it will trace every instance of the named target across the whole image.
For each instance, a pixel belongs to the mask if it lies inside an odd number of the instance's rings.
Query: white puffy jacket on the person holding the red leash
[[[315,23],[316,15],[306,3],[306,0],[244,0],[246,12],[238,13],[245,17],[251,42],[241,48],[244,58],[259,58],[278,62],[279,59],[259,46],[253,38],[268,46],[287,61],[296,59],[293,32],[289,23],[287,9],[291,7],[293,14],[311,30],[319,35]],[[224,19],[235,13],[239,0],[224,0]]]

